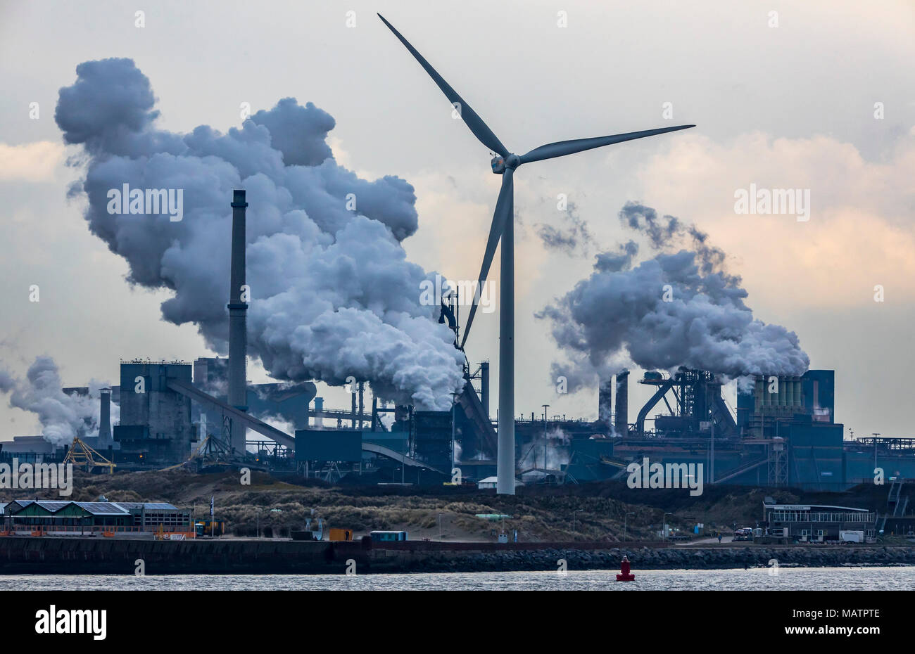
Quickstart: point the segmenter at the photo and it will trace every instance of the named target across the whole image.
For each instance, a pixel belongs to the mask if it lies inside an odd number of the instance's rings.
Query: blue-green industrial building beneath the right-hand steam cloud
[[[738,385],[736,413],[720,381],[705,371],[646,372],[640,383],[657,391],[613,439],[617,460],[702,463],[706,484],[844,490],[872,483],[876,467],[887,477],[915,477],[909,439],[844,440],[845,427],[835,422],[833,370]],[[625,412],[619,402],[618,413]],[[667,411],[652,418],[661,402]]]

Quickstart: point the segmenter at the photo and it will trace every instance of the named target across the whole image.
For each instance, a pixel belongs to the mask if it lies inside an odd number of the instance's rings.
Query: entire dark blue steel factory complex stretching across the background
[[[234,191],[229,358],[122,360],[120,383],[100,392],[98,435],[61,446],[41,436],[17,436],[2,444],[0,460],[69,460],[102,472],[235,466],[334,483],[490,487],[499,434],[490,411],[487,361],[465,359],[466,383],[449,411],[383,402],[369,381],[356,381],[350,405],[339,408],[325,406],[310,381],[247,383],[247,303],[241,290],[247,206],[245,192]],[[457,347],[453,298],[441,306],[440,322],[454,330]],[[630,383],[651,390],[648,402],[632,411]],[[706,485],[843,490],[873,481],[877,468],[888,479],[915,477],[915,438],[845,439],[844,425],[836,422],[835,383],[834,370],[758,376],[755,383],[738,384],[732,408],[711,372],[647,371],[633,381],[628,370],[620,370],[599,382],[593,416],[551,416],[548,405],[542,414],[515,416],[516,484],[621,479],[630,463],[645,457],[703,464]],[[63,391],[87,395],[89,388]],[[114,424],[113,404],[120,415]],[[272,423],[285,424],[285,430]],[[900,504],[896,510],[905,513]]]

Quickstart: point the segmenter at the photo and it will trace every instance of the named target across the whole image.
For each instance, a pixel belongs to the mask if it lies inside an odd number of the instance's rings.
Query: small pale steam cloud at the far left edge
[[[36,358],[25,380],[0,369],[0,393],[10,394],[10,406],[38,415],[42,435],[54,445],[69,445],[73,436],[99,434],[99,390],[106,386],[92,381],[89,395],[64,393],[57,364],[50,357]],[[116,423],[119,415],[119,407],[112,404],[111,423]]]

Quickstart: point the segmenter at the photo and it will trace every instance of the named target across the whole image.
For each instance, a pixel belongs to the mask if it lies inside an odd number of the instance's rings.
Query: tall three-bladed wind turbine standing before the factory
[[[425,60],[423,55],[410,45],[404,36],[398,32],[391,23],[378,15],[382,22],[400,39],[404,47],[410,51],[414,59],[419,62],[429,77],[436,82],[439,89],[445,93],[449,102],[454,106],[461,119],[470,128],[479,142],[486,145],[491,151],[497,153],[492,158],[492,172],[502,176],[502,188],[499,199],[496,200],[496,210],[490,225],[490,237],[486,241],[486,252],[483,254],[483,265],[479,269],[479,285],[474,294],[473,304],[470,306],[467,326],[464,327],[464,338],[461,339],[460,348],[464,348],[470,333],[473,316],[477,313],[479,295],[482,293],[483,284],[490,273],[492,257],[496,252],[496,245],[501,238],[501,281],[499,285],[499,447],[497,452],[498,481],[496,492],[500,495],[514,495],[514,184],[512,177],[514,171],[522,164],[543,159],[554,159],[557,156],[574,155],[576,152],[591,150],[603,145],[612,145],[631,141],[645,136],[675,132],[676,130],[695,127],[695,125],[677,125],[676,127],[662,127],[661,129],[646,130],[644,132],[630,132],[628,134],[612,134],[610,136],[597,136],[595,138],[579,138],[572,141],[559,141],[541,145],[525,155],[515,155],[508,151],[496,134],[492,133],[483,119],[470,108],[470,105],[458,95],[458,91],[451,88],[450,84],[439,75],[432,65]]]

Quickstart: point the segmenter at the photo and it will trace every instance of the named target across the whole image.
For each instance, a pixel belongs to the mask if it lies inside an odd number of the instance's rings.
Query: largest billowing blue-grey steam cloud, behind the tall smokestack
[[[194,323],[226,351],[231,191],[245,188],[249,353],[280,380],[370,381],[380,397],[447,409],[463,385],[453,334],[420,304],[433,273],[405,259],[416,231],[414,189],[367,181],[326,143],[333,118],[286,98],[221,134],[156,128],[149,80],[131,59],[86,61],[60,90],[55,118],[88,155],[92,233],[130,265],[128,281],[166,287],[162,315]],[[110,189],[180,189],[183,219],[111,214]],[[146,207],[145,209],[148,209]]]

